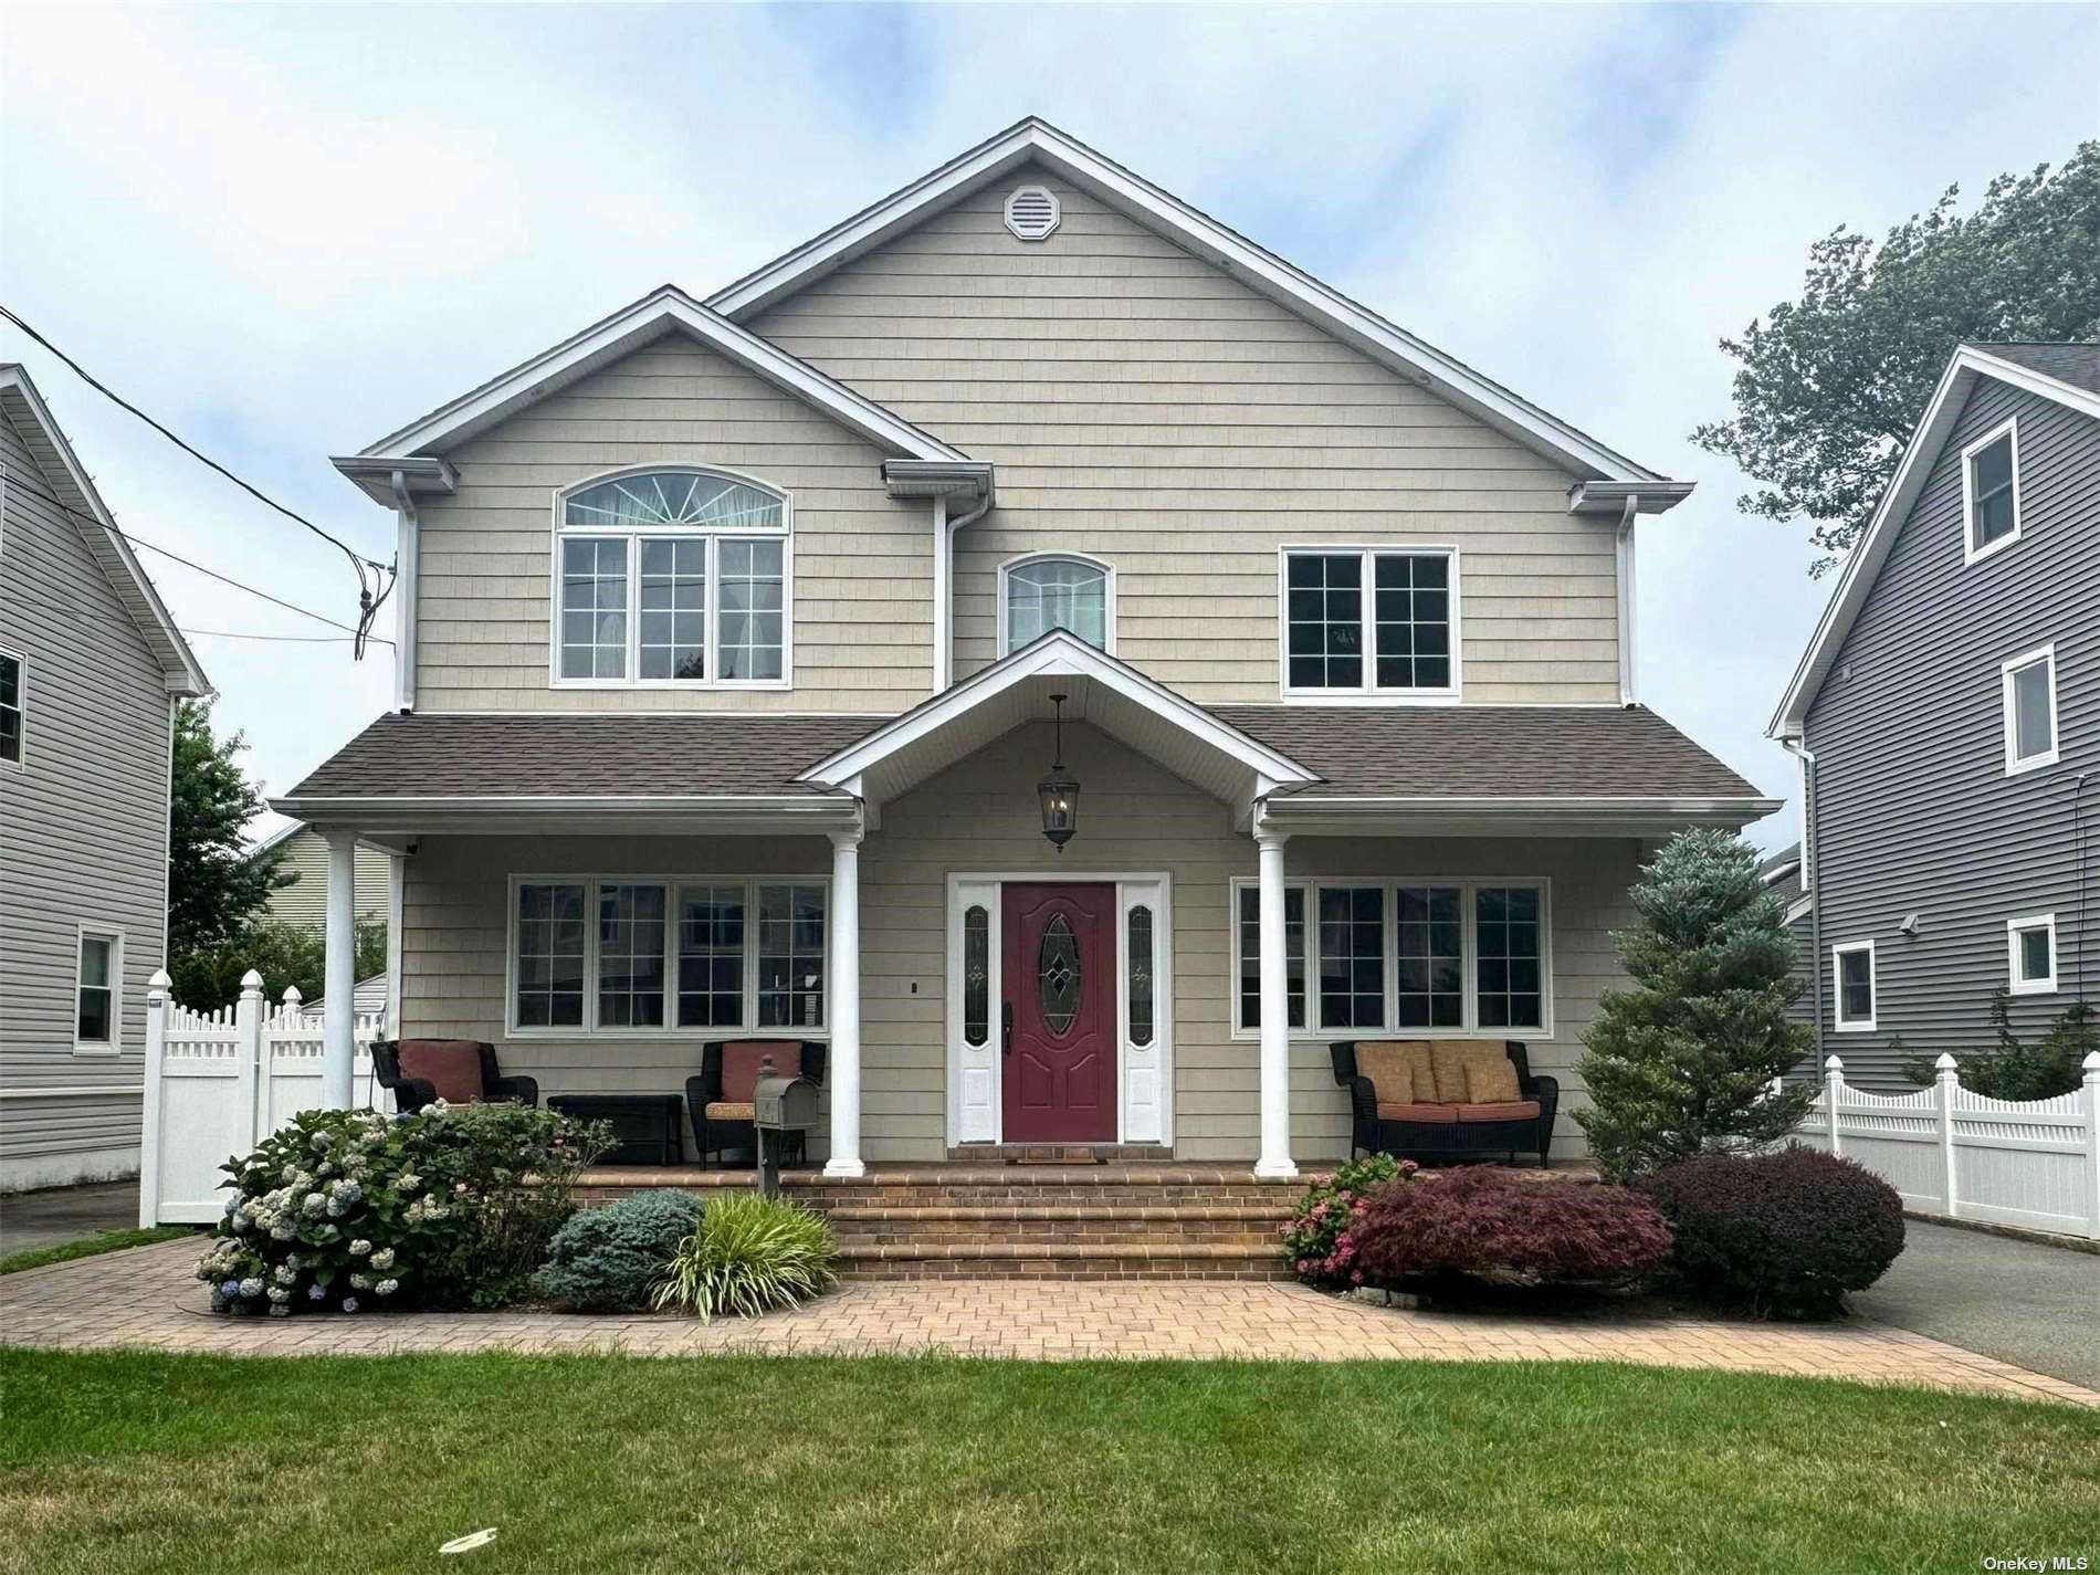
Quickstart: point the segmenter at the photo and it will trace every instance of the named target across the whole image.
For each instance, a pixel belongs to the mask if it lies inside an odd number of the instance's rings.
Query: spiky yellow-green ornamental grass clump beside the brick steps
[[[655,1294],[659,1308],[758,1317],[800,1306],[838,1279],[832,1226],[800,1203],[760,1193],[724,1193],[701,1210],[699,1228],[678,1243]]]

